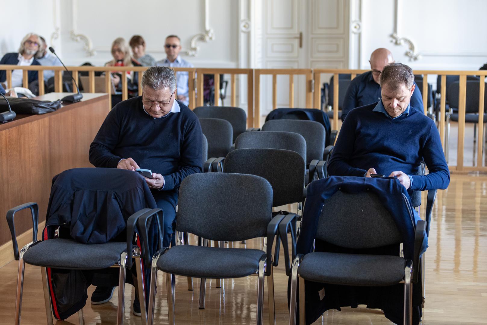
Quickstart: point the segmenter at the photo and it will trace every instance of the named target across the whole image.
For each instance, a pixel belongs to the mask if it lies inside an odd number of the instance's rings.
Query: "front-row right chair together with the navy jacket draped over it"
[[[337,177],[310,184],[308,193],[315,199],[306,202],[306,224],[301,228],[292,266],[287,235],[281,235],[286,271],[291,276],[289,324],[311,324],[327,309],[355,304],[374,304],[396,324],[419,322],[420,290],[413,296],[412,284],[418,283],[414,288],[419,289],[426,222],[412,224],[411,202],[400,187],[395,180],[375,179],[364,184],[363,178]],[[392,190],[384,191],[387,188]],[[287,221],[293,217],[284,218],[280,234],[292,227]],[[294,252],[294,237],[292,240]],[[404,257],[399,256],[400,243]],[[320,300],[318,291],[322,288],[327,299]]]

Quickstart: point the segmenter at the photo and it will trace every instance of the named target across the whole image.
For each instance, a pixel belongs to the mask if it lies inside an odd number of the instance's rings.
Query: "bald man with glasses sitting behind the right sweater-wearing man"
[[[393,62],[393,54],[388,49],[379,48],[372,52],[369,60],[371,71],[357,75],[348,86],[341,109],[342,121],[345,121],[350,110],[380,100],[380,74],[386,65]],[[414,86],[411,106],[424,113],[423,97],[416,83]]]

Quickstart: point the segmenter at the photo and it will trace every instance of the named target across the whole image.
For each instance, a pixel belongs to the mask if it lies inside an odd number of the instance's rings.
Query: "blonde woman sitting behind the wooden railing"
[[[130,47],[123,37],[116,38],[112,43],[113,59],[105,63],[105,67],[140,67],[140,63],[132,59],[130,55]],[[129,90],[129,97],[138,96],[138,79],[139,73],[128,71],[112,71],[112,81],[115,89],[122,91],[121,77],[122,73],[127,73],[127,88]],[[112,95],[112,107],[122,101],[122,95]]]

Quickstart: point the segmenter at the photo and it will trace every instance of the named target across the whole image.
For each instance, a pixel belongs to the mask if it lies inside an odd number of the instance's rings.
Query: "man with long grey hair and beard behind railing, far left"
[[[34,33],[29,33],[20,42],[19,52],[7,53],[3,55],[0,60],[1,64],[12,64],[18,66],[40,65],[34,55],[42,46],[42,41],[39,36]],[[22,70],[12,71],[12,88],[22,87]],[[29,71],[27,73],[29,84],[37,80],[37,71]],[[0,82],[6,83],[7,73],[5,70],[0,71]]]

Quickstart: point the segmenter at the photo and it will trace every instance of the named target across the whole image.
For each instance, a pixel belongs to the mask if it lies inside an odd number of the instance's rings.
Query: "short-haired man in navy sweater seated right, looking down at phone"
[[[343,122],[328,163],[330,175],[396,177],[413,190],[445,189],[450,171],[434,122],[410,105],[414,75],[391,63],[380,76],[381,100],[353,109]],[[416,175],[422,161],[429,174]]]

